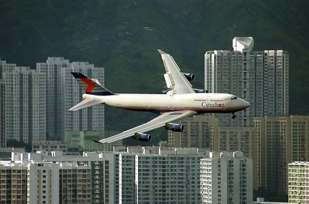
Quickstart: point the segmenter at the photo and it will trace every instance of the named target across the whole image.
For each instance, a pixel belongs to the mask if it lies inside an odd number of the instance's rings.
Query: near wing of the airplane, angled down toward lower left
[[[95,139],[92,139],[92,140],[98,143],[106,143],[106,142],[111,143],[119,139],[124,139],[126,137],[133,136],[135,135],[135,133],[144,133],[147,131],[152,131],[156,128],[165,126],[165,124],[167,124],[168,122],[179,120],[183,117],[194,115],[194,114],[196,114],[195,111],[173,111],[173,112],[163,113],[162,115],[159,115],[155,119],[150,120],[150,122],[147,122],[145,124],[132,128],[128,131],[124,131],[122,133],[119,133],[117,135],[114,135],[114,136],[111,136],[105,139],[101,139],[99,141]]]

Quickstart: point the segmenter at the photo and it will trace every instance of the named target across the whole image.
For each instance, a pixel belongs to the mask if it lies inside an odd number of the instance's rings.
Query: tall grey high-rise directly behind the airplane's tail
[[[82,100],[84,93],[71,71],[80,71],[103,85],[103,68],[49,57],[46,63],[36,63],[36,70],[46,73],[48,140],[63,140],[66,131],[100,131],[104,136],[104,106],[98,104],[79,111],[68,111]]]

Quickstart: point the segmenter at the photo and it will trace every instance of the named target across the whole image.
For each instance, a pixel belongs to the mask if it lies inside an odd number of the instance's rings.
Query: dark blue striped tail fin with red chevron
[[[71,72],[73,77],[78,81],[80,87],[85,93],[91,95],[114,95],[108,89],[105,89],[98,80],[90,79],[80,72]],[[72,108],[73,109],[73,108]]]

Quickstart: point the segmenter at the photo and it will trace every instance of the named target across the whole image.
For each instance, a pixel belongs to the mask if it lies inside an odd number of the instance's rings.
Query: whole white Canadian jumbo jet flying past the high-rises
[[[159,116],[145,124],[141,124],[128,131],[124,131],[108,138],[93,141],[97,143],[111,143],[119,139],[133,137],[139,141],[150,141],[151,135],[146,132],[156,128],[175,132],[182,132],[183,125],[173,123],[183,117],[203,113],[235,113],[247,109],[249,102],[229,93],[208,93],[205,89],[194,89],[189,81],[194,80],[194,73],[183,73],[178,65],[165,52],[158,49],[163,60],[166,73],[163,75],[167,85],[165,94],[134,94],[134,93],[112,93],[104,88],[96,79],[90,79],[80,72],[71,72],[85,93],[84,99],[69,111],[84,109],[95,104],[106,104],[118,109],[130,111],[150,111]]]

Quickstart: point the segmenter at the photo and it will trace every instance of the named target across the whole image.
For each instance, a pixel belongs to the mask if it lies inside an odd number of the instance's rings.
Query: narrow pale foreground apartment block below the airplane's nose
[[[210,152],[201,159],[201,203],[253,202],[252,159],[242,152]]]

